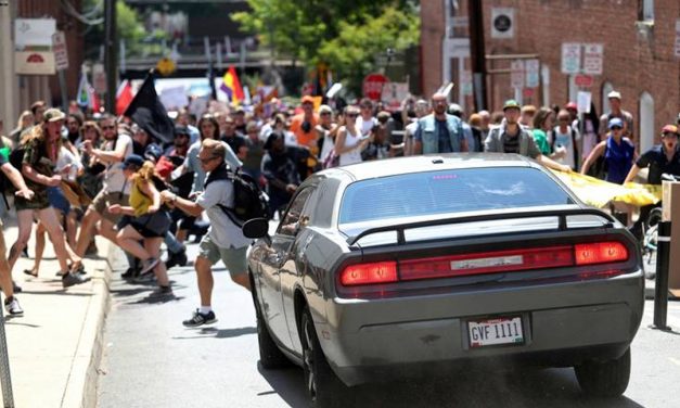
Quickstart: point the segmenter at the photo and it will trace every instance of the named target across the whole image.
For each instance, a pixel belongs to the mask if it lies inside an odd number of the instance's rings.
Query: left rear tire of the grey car
[[[309,307],[305,306],[300,319],[300,342],[303,345],[303,371],[305,387],[311,407],[349,407],[347,386],[335,375],[321,349]]]

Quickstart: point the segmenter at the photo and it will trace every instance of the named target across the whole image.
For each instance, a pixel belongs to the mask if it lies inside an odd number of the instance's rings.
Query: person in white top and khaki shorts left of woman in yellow
[[[116,224],[120,220],[119,214],[113,214],[106,208],[113,204],[127,205],[130,194],[130,183],[128,182],[123,166],[120,165],[125,157],[132,154],[132,139],[125,133],[118,133],[116,118],[111,114],[104,114],[100,120],[103,140],[101,148],[95,148],[91,140],[82,142],[82,149],[95,163],[103,166],[102,190],[97,193],[92,203],[82,217],[80,224],[80,233],[78,234],[78,244],[76,254],[84,256],[94,231],[106,238],[111,242],[116,242]],[[100,167],[101,167],[100,166]],[[130,267],[132,268],[132,260]]]

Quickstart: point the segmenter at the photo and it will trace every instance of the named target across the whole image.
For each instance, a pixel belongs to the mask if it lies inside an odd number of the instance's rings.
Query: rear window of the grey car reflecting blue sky
[[[536,168],[427,171],[349,184],[343,195],[339,224],[573,203],[553,179]]]

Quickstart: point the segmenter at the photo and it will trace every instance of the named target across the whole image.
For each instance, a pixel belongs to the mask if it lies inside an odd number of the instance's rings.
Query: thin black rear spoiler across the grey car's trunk
[[[538,217],[559,217],[559,230],[564,231],[567,229],[566,217],[573,215],[594,215],[607,220],[607,224],[603,228],[612,228],[616,219],[610,214],[598,208],[581,208],[575,205],[561,205],[551,206],[549,209],[540,209],[544,207],[525,207],[525,208],[510,208],[506,211],[490,209],[484,212],[466,213],[457,217],[426,219],[413,222],[397,224],[392,226],[383,226],[369,228],[359,232],[356,235],[348,237],[347,243],[354,245],[363,237],[386,231],[397,231],[397,243],[402,245],[406,243],[403,231],[407,229],[421,228],[421,227],[434,227],[442,226],[447,224],[465,224],[474,221],[495,221],[501,219],[517,219],[517,218],[538,218]]]

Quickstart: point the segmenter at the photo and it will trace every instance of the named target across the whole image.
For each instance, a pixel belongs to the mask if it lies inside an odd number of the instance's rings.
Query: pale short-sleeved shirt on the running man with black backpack
[[[234,187],[229,180],[210,182],[196,199],[196,204],[205,209],[210,220],[210,239],[219,247],[240,248],[251,244],[251,240],[243,235],[243,231],[224,214],[217,204],[226,207],[233,206]]]

